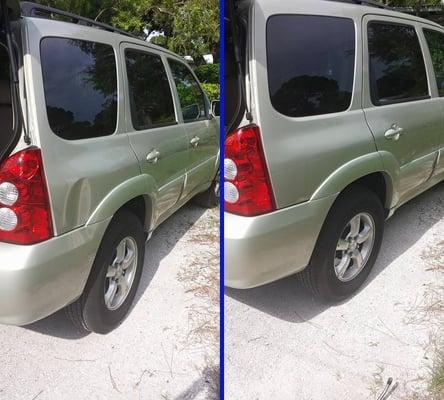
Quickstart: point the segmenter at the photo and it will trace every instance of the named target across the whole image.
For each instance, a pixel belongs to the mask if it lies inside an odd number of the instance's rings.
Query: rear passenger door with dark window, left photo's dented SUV
[[[142,173],[155,180],[157,219],[181,196],[188,164],[188,139],[179,124],[162,53],[123,44],[122,57],[127,76],[128,135]]]

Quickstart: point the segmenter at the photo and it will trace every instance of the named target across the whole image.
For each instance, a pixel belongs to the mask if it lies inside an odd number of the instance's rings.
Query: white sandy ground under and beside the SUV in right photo
[[[226,399],[376,399],[389,377],[390,400],[424,392],[444,333],[443,270],[441,184],[387,222],[370,278],[344,304],[319,304],[295,277],[226,290]]]

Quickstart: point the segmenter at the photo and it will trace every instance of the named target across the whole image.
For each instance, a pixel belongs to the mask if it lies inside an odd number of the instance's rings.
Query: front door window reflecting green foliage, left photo
[[[181,62],[169,60],[174,82],[179,95],[185,122],[207,117],[202,90],[188,67]]]

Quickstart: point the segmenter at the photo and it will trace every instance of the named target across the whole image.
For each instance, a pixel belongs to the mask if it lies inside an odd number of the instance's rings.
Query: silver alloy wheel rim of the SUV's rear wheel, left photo
[[[120,241],[105,277],[105,305],[117,310],[128,297],[137,269],[137,243],[131,236]]]

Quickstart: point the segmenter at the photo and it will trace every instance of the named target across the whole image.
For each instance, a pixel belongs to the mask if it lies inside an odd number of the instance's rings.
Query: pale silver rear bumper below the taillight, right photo
[[[335,199],[252,218],[225,213],[225,285],[247,289],[302,271]]]

